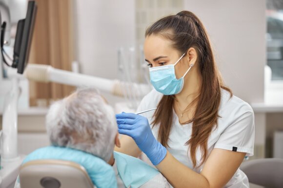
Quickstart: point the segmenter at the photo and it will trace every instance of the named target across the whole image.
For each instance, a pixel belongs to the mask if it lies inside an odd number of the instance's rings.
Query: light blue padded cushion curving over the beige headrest
[[[117,180],[112,167],[90,153],[71,148],[48,146],[33,151],[23,163],[39,159],[57,159],[71,161],[84,167],[97,188],[117,188]]]

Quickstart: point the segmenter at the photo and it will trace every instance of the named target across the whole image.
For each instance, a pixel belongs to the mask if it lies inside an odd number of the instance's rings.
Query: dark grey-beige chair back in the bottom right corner
[[[267,188],[283,188],[283,159],[254,159],[243,162],[240,169],[250,183]]]

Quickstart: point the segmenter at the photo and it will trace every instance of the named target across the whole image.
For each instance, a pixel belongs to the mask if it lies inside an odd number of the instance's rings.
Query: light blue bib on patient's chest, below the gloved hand
[[[114,151],[114,158],[119,175],[127,188],[139,188],[160,173],[136,157]]]

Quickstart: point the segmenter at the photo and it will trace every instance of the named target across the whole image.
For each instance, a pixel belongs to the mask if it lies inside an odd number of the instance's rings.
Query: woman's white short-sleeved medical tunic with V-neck
[[[137,112],[157,107],[163,94],[152,90],[144,96]],[[172,107],[173,108],[173,107]],[[149,123],[153,121],[154,111],[143,113]],[[219,107],[219,118],[217,128],[213,128],[208,138],[208,155],[214,148],[224,150],[245,152],[246,156],[253,155],[254,148],[254,113],[251,106],[242,99],[232,96],[230,93],[221,91],[221,103]],[[151,125],[152,128],[152,125]],[[152,128],[153,135],[157,139],[159,126]],[[190,159],[189,147],[185,143],[190,139],[192,123],[181,125],[177,114],[173,110],[172,128],[170,131],[167,150],[182,164],[193,169]],[[144,160],[144,158],[142,158]],[[196,151],[197,167],[201,164],[201,151]],[[144,160],[150,164],[149,160]],[[152,164],[151,164],[152,165]],[[204,164],[199,168],[193,169],[200,173]],[[225,188],[247,188],[248,179],[242,170],[238,169]]]

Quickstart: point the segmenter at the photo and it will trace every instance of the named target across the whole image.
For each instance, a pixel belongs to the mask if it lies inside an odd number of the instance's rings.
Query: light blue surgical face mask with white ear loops
[[[156,91],[164,95],[179,94],[182,91],[184,77],[193,66],[193,64],[190,64],[186,73],[180,79],[176,78],[174,67],[184,55],[185,53],[175,64],[149,68],[150,82]]]

